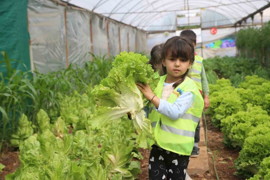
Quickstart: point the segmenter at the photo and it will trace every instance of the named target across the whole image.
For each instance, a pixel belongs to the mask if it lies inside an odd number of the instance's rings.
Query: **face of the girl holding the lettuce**
[[[167,69],[167,77],[171,79],[182,78],[182,75],[186,73],[187,69],[192,65],[190,60],[185,58],[174,58],[168,55],[162,60],[163,66]]]

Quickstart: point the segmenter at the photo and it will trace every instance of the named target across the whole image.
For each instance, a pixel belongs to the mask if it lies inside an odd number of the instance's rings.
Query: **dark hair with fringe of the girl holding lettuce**
[[[174,36],[166,41],[161,51],[161,60],[166,59],[169,55],[173,58],[184,58],[187,61],[191,61],[193,64],[194,57],[194,46],[192,42],[186,38],[181,38],[180,36]],[[162,64],[162,69],[164,74],[167,74],[166,67]],[[179,84],[181,84],[187,74],[189,73],[189,69],[182,75],[182,79],[176,81],[173,84],[173,87],[176,88]]]

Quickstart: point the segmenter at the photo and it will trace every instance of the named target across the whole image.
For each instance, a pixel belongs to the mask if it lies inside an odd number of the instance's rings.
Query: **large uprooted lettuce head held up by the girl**
[[[101,128],[105,122],[131,114],[137,131],[136,142],[141,148],[154,144],[151,121],[145,117],[143,107],[147,99],[137,88],[136,82],[147,83],[152,89],[158,84],[154,70],[145,55],[121,52],[113,62],[107,78],[96,85],[93,93],[98,104],[97,113],[88,120],[91,128]]]

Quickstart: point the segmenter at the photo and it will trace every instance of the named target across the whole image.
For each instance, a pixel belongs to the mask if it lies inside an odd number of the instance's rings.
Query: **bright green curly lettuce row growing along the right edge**
[[[223,143],[240,148],[235,160],[236,175],[254,179],[270,178],[270,81],[246,76],[238,87],[229,79],[210,84],[207,113],[223,133]]]

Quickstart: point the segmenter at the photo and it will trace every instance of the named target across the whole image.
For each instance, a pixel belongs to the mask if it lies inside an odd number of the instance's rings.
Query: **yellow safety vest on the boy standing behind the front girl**
[[[195,81],[199,90],[202,91],[202,80],[201,80],[201,73],[202,73],[202,60],[201,56],[195,55],[195,61],[192,65],[191,70],[191,79]]]

